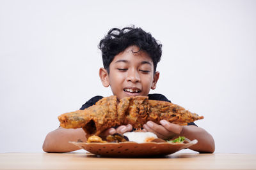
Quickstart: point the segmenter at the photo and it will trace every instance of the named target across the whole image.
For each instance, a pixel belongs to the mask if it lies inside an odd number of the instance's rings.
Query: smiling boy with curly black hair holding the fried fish
[[[157,43],[150,33],[141,28],[125,27],[111,29],[99,43],[102,51],[104,68],[100,68],[99,76],[104,87],[111,87],[113,95],[118,99],[126,96],[148,96],[148,99],[168,101],[161,94],[148,94],[150,89],[156,89],[159,72],[156,71],[157,62],[161,59],[162,45]],[[95,96],[86,102],[80,110],[95,104],[102,96]],[[169,101],[170,102],[170,101]],[[123,134],[132,131],[131,125],[121,125],[104,131],[101,136],[108,136],[116,132]],[[172,124],[161,120],[160,125],[148,121],[143,125],[143,131],[154,132],[159,138],[172,139],[186,136],[197,139],[198,143],[190,147],[200,153],[214,152],[214,139],[204,129],[194,123],[185,126]],[[47,134],[43,150],[45,152],[71,152],[78,150],[68,141],[86,141],[83,129],[64,129],[59,127]]]

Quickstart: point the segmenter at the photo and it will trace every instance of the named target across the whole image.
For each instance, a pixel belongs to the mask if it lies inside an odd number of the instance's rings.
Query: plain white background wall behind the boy
[[[256,153],[256,1],[0,1],[0,152],[43,152],[102,86],[97,45],[131,24],[163,44],[151,93],[204,115],[216,152]]]

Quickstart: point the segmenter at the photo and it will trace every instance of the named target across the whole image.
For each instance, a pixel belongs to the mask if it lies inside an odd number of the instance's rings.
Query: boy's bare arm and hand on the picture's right
[[[213,153],[215,150],[214,139],[211,134],[200,127],[195,125],[177,125],[161,120],[160,124],[148,121],[143,127],[145,131],[154,132],[159,138],[173,139],[179,136],[185,136],[186,138],[193,140],[196,139],[198,143],[189,147],[191,150],[195,150],[200,153]]]

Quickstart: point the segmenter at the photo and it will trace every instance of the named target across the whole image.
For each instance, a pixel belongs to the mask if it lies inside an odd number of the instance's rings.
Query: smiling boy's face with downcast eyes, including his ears
[[[118,99],[128,96],[148,96],[156,89],[159,72],[154,74],[152,59],[146,52],[138,52],[138,46],[129,46],[115,56],[109,65],[109,74],[100,68],[100,79],[104,87],[110,85]],[[137,52],[137,53],[134,53]]]

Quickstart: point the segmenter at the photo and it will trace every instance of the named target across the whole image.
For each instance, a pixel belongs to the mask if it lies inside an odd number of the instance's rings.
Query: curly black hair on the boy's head
[[[134,25],[123,29],[113,28],[100,41],[99,49],[102,52],[103,66],[108,73],[109,64],[114,57],[131,45],[136,45],[140,50],[148,53],[154,64],[154,73],[156,73],[156,66],[162,55],[162,45],[157,43],[149,32],[143,31],[140,27],[134,27]]]

